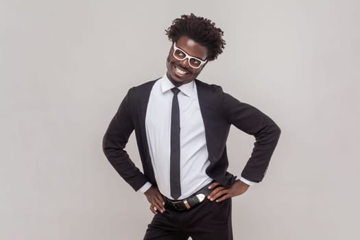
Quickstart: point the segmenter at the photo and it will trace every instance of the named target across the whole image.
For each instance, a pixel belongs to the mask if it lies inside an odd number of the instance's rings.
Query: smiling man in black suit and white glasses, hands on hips
[[[104,153],[154,219],[144,239],[232,239],[231,197],[261,182],[280,129],[260,110],[197,80],[224,49],[223,32],[193,14],[167,29],[167,72],[131,88],[104,136]],[[241,178],[228,173],[230,125],[255,136]],[[125,152],[135,130],[144,173]]]

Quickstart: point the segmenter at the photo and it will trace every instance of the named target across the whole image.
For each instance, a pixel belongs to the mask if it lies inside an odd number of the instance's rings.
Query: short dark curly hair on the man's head
[[[182,15],[179,19],[173,20],[165,32],[172,42],[176,42],[181,36],[187,36],[206,47],[208,61],[215,60],[226,45],[222,38],[224,32],[219,27],[215,27],[215,23],[194,14]]]

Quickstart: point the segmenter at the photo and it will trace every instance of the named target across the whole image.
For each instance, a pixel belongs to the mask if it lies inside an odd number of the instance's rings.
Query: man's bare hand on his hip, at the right
[[[219,182],[213,182],[208,189],[214,189],[209,195],[208,199],[211,201],[221,202],[229,197],[235,197],[245,193],[250,187],[248,184],[241,182],[241,180],[235,180],[231,187],[219,186]]]

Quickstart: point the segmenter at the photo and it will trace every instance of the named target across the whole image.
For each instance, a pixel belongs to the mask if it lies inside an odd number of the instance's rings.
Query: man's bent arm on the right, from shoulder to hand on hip
[[[221,110],[230,124],[253,135],[256,141],[251,157],[241,173],[241,180],[236,180],[230,187],[219,186],[219,182],[213,182],[209,187],[214,190],[208,195],[208,199],[216,202],[241,195],[248,190],[250,184],[263,180],[280,136],[280,128],[267,115],[222,91]]]

